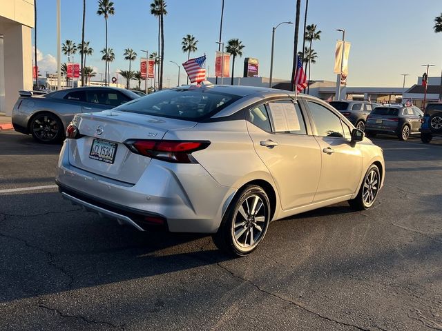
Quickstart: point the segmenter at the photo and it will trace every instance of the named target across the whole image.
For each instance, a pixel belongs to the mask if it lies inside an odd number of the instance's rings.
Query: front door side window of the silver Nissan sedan
[[[336,114],[318,103],[307,101],[307,104],[309,105],[318,136],[345,137],[343,126],[340,124],[340,118]]]

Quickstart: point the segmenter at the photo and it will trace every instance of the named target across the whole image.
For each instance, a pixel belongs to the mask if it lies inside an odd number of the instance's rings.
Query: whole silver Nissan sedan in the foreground
[[[138,230],[213,234],[245,255],[269,223],[349,201],[371,208],[383,152],[324,101],[244,86],[183,87],[77,114],[57,184],[64,198]]]

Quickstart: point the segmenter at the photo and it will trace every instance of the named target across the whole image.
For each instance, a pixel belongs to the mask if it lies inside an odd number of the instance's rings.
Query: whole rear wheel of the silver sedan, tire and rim
[[[253,204],[257,210],[253,210]],[[229,255],[250,254],[264,239],[270,214],[266,192],[260,186],[247,185],[231,201],[218,232],[212,236],[213,242]]]

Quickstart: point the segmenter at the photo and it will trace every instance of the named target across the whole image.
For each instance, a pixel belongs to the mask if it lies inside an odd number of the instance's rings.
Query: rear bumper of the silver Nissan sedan
[[[215,233],[236,193],[198,164],[153,159],[133,185],[75,168],[68,153],[65,142],[56,177],[64,198],[142,230],[146,230],[143,218],[154,215],[164,218],[171,232]]]

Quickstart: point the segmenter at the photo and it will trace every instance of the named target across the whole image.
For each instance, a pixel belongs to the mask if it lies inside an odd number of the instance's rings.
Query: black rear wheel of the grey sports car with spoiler
[[[59,143],[64,137],[64,127],[57,115],[52,112],[39,112],[29,123],[29,130],[39,143]]]

